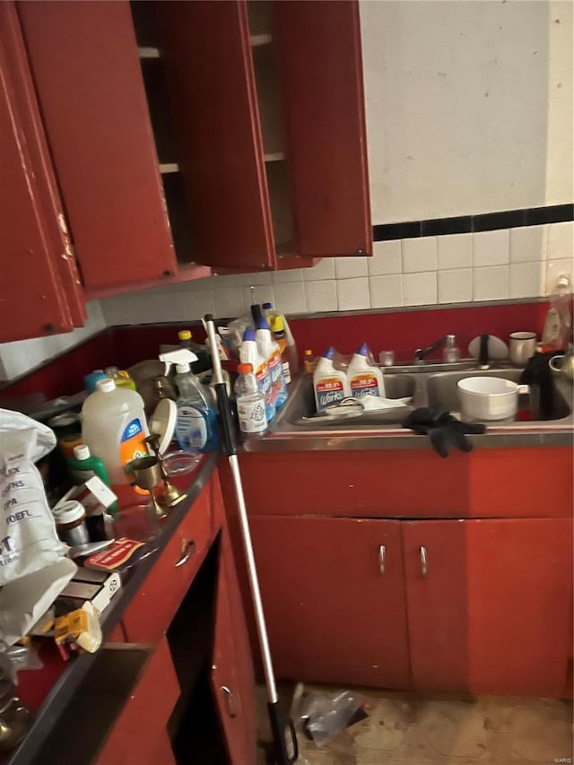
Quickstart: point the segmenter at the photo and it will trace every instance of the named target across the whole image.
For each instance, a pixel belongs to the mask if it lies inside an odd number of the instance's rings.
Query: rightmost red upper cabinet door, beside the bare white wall
[[[359,4],[273,8],[298,252],[370,255]]]

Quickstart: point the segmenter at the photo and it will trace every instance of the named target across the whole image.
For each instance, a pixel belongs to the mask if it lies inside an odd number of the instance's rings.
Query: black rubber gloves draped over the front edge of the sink
[[[450,448],[470,452],[471,442],[465,438],[468,435],[480,435],[486,431],[480,423],[457,420],[446,409],[438,406],[422,406],[411,412],[403,422],[403,427],[414,430],[418,435],[426,435],[431,439],[432,448],[440,456],[448,456]]]

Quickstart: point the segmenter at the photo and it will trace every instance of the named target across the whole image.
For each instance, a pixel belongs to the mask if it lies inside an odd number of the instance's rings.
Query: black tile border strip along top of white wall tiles
[[[525,210],[505,210],[500,213],[461,215],[457,218],[435,218],[432,221],[385,223],[373,226],[373,241],[517,229],[521,226],[564,221],[574,221],[574,204],[554,204],[551,207],[529,207]]]

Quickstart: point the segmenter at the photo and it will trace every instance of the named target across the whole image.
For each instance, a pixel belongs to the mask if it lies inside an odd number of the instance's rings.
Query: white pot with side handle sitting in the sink
[[[458,381],[460,413],[473,420],[509,420],[516,416],[518,394],[527,390],[504,378],[464,378]]]

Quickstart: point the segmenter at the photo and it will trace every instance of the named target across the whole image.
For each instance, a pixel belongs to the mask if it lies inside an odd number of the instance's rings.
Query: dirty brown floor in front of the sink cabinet
[[[329,690],[308,686],[307,690]],[[336,690],[336,689],[335,689]],[[300,765],[549,765],[572,762],[570,701],[422,696],[352,689],[369,717],[319,748],[299,735]],[[283,710],[292,686],[282,686]],[[257,689],[258,739],[269,741],[265,689]],[[265,763],[263,747],[258,762]]]

